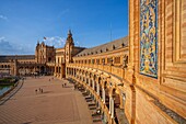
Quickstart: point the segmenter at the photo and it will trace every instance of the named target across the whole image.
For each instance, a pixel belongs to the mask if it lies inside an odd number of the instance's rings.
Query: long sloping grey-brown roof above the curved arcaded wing
[[[114,49],[118,49],[121,47],[127,47],[128,46],[128,36],[125,36],[119,40],[115,40],[113,42],[95,46],[92,48],[85,48],[81,53],[79,53],[78,56],[88,56],[88,55],[94,55],[94,54],[100,54],[100,53],[105,53],[105,52],[112,52]]]

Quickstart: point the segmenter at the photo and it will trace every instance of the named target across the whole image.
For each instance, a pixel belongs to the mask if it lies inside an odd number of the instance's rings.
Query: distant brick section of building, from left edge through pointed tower
[[[66,77],[66,64],[72,63],[72,57],[83,49],[84,47],[74,46],[71,31],[69,31],[62,48],[37,42],[35,55],[0,56],[0,72],[12,76],[47,74],[61,79]]]

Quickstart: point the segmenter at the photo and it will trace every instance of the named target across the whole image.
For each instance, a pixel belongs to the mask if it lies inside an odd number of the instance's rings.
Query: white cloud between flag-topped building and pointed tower
[[[66,38],[60,37],[60,36],[51,36],[51,37],[46,37],[46,40],[44,40],[45,44],[49,45],[49,46],[55,46],[57,48],[59,47],[63,47],[65,43],[66,43]]]

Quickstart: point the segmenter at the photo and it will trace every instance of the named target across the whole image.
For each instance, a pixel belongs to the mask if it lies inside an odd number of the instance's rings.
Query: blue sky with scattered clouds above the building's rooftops
[[[44,36],[62,47],[69,29],[77,46],[124,37],[128,0],[0,0],[0,55],[34,54]]]

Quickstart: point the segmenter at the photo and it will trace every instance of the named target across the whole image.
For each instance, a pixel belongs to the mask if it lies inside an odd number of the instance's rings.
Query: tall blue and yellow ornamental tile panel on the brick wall
[[[140,74],[158,78],[158,0],[140,0]]]

